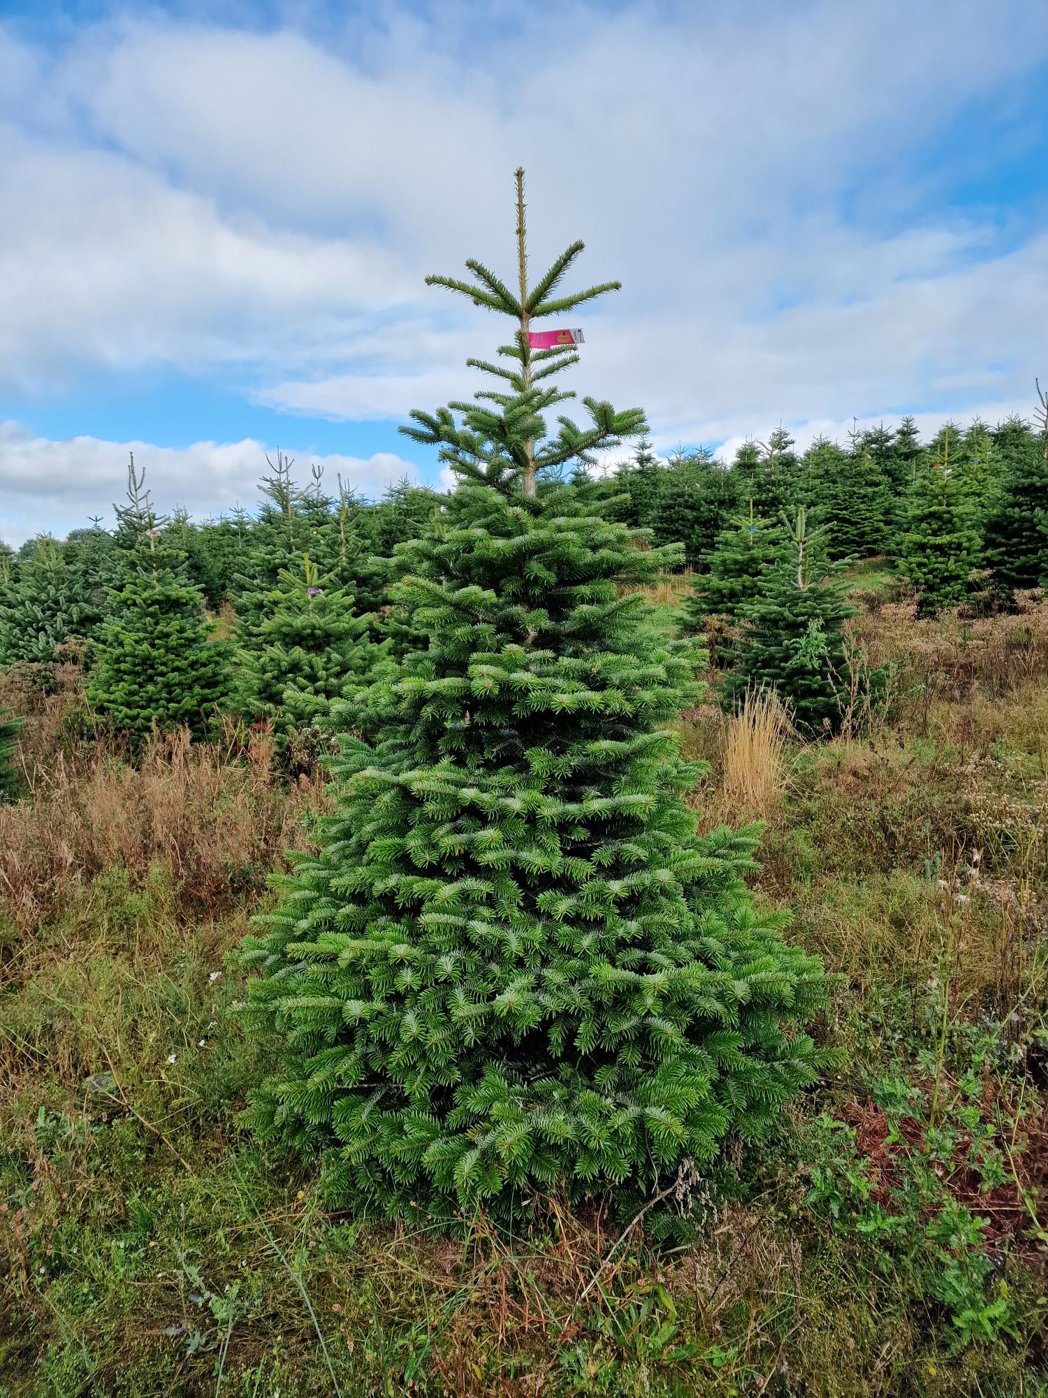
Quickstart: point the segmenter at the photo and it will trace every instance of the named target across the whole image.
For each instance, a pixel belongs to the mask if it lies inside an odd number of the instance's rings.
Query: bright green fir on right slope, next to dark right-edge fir
[[[943,466],[929,467],[910,487],[898,558],[900,573],[919,593],[921,615],[963,603],[978,562],[980,535],[964,478]]]

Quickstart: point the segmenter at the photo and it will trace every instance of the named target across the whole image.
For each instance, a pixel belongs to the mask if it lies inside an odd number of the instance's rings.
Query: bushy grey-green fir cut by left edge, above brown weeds
[[[57,540],[34,540],[0,589],[0,667],[48,664],[70,637],[89,640],[102,618],[102,593],[88,570],[70,563]]]

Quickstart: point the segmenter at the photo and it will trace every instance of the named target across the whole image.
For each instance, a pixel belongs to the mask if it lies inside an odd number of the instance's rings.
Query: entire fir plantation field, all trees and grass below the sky
[[[0,1394],[1045,1392],[1048,401],[658,459],[516,221],[447,492],[0,558]]]

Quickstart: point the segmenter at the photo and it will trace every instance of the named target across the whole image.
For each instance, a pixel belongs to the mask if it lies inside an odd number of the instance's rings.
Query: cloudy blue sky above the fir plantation
[[[873,11],[873,13],[868,13]],[[731,453],[1048,377],[1048,6],[0,0],[0,537],[120,496],[366,495],[495,323],[428,291],[576,236],[574,387]]]

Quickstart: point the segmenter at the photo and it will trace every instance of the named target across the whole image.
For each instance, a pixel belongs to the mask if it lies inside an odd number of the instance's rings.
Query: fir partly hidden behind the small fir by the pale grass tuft
[[[708,570],[696,579],[682,607],[683,629],[706,636],[715,664],[731,664],[745,608],[760,594],[763,570],[778,542],[780,531],[753,513],[752,500],[749,514],[717,535]]]

